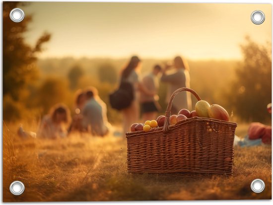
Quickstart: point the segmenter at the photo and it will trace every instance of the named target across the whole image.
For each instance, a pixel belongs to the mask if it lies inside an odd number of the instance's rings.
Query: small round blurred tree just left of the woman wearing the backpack
[[[118,81],[118,73],[112,64],[102,64],[98,68],[98,75],[101,82],[114,84]]]

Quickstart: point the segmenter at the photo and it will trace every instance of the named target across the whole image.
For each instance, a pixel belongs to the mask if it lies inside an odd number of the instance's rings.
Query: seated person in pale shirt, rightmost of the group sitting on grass
[[[82,110],[82,127],[93,136],[105,136],[109,132],[106,104],[98,96],[94,87],[85,92],[87,102]]]

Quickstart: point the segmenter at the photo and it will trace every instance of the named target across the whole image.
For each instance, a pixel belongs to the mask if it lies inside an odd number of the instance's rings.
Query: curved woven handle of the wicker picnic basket
[[[176,91],[174,91],[174,93],[170,97],[170,100],[169,100],[169,103],[168,103],[168,106],[167,106],[167,110],[166,110],[166,113],[165,113],[166,119],[165,119],[164,126],[163,126],[163,133],[168,133],[169,132],[169,125],[170,125],[170,117],[171,117],[171,109],[172,109],[173,99],[178,93],[180,93],[182,91],[191,92],[198,100],[201,100],[199,95],[191,88],[181,87],[181,88],[178,88]]]

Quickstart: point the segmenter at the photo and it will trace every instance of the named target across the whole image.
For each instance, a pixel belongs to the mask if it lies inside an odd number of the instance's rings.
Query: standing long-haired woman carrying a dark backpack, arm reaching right
[[[131,105],[122,110],[123,114],[123,131],[124,135],[130,131],[132,124],[136,123],[139,118],[139,103],[138,103],[138,92],[144,92],[146,95],[154,96],[155,93],[149,91],[139,79],[139,69],[141,61],[137,56],[133,56],[127,66],[121,73],[121,81],[127,81],[134,87],[134,100]]]

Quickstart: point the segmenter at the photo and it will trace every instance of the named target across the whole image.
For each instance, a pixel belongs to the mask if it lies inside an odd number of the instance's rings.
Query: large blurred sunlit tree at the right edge
[[[227,103],[242,120],[266,122],[271,119],[266,107],[272,96],[271,44],[258,45],[247,36],[240,47],[244,61],[236,69]]]

